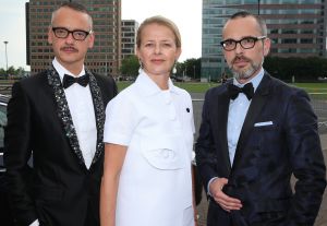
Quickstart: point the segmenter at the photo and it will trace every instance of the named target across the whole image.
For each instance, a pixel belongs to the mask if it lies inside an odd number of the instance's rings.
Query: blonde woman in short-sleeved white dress
[[[153,16],[137,31],[140,74],[106,109],[102,226],[194,226],[193,109],[170,72],[180,33]]]

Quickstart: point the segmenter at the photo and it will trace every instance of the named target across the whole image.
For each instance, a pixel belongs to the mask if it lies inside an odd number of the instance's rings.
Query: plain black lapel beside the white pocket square
[[[263,107],[268,102],[268,96],[270,92],[270,81],[271,78],[269,74],[265,73],[262,82],[259,83],[252,102],[250,104],[247,114],[245,116],[245,120],[241,130],[241,134],[239,138],[233,167],[237,168],[239,165],[239,162],[243,158],[244,150],[242,148],[245,145],[245,142],[249,139],[249,135],[251,134],[254,123],[256,121],[257,116],[261,114]]]

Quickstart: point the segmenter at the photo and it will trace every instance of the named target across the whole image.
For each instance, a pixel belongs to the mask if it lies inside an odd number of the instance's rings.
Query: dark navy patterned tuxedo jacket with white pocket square
[[[264,75],[249,107],[231,166],[227,84],[206,93],[196,163],[204,187],[228,178],[223,192],[242,201],[230,214],[210,199],[208,225],[314,224],[326,187],[317,118],[307,94]],[[291,175],[298,178],[292,192]]]

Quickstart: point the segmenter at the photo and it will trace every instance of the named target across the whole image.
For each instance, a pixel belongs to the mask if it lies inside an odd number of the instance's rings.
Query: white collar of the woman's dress
[[[162,90],[142,70],[135,81],[135,84],[140,86],[141,93],[145,96],[152,96],[162,92]],[[177,93],[177,87],[173,85],[171,79],[168,80],[168,90],[171,93]]]

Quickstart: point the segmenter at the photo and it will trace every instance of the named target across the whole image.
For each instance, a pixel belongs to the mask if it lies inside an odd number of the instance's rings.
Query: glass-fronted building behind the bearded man
[[[220,47],[222,26],[246,10],[265,19],[269,56],[326,57],[325,0],[203,0],[202,81],[220,80],[228,70]]]

